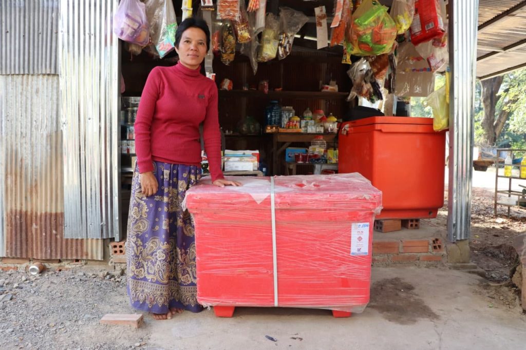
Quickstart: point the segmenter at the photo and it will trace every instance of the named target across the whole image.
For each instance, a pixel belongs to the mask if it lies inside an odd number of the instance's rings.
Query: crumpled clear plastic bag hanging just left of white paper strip
[[[309,17],[292,8],[280,7],[279,19],[281,29],[279,33],[278,59],[284,59],[292,51],[294,36],[308,22]]]

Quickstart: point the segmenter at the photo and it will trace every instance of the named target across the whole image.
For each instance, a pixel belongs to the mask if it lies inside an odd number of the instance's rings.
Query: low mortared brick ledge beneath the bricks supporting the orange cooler
[[[444,258],[439,238],[430,240],[382,240],[372,242],[373,263],[440,263]]]

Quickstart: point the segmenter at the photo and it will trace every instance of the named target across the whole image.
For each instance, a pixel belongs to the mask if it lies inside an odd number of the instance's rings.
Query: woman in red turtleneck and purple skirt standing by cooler
[[[210,46],[203,19],[187,18],[176,33],[179,62],[151,70],[135,122],[135,167],[128,219],[127,291],[131,306],[156,320],[199,312],[194,226],[181,209],[201,170],[199,124],[216,186],[240,186],[221,172],[217,87],[199,73]]]

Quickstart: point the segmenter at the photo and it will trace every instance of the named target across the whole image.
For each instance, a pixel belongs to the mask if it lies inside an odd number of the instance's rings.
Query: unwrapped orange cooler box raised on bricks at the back
[[[382,191],[377,219],[436,218],[444,204],[446,132],[433,119],[370,117],[344,123],[338,172],[359,172]]]

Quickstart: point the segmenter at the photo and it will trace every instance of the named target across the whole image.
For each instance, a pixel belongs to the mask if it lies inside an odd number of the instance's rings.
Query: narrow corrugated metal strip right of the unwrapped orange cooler
[[[468,239],[471,230],[471,177],[477,49],[478,0],[450,0],[451,65],[448,239]]]

